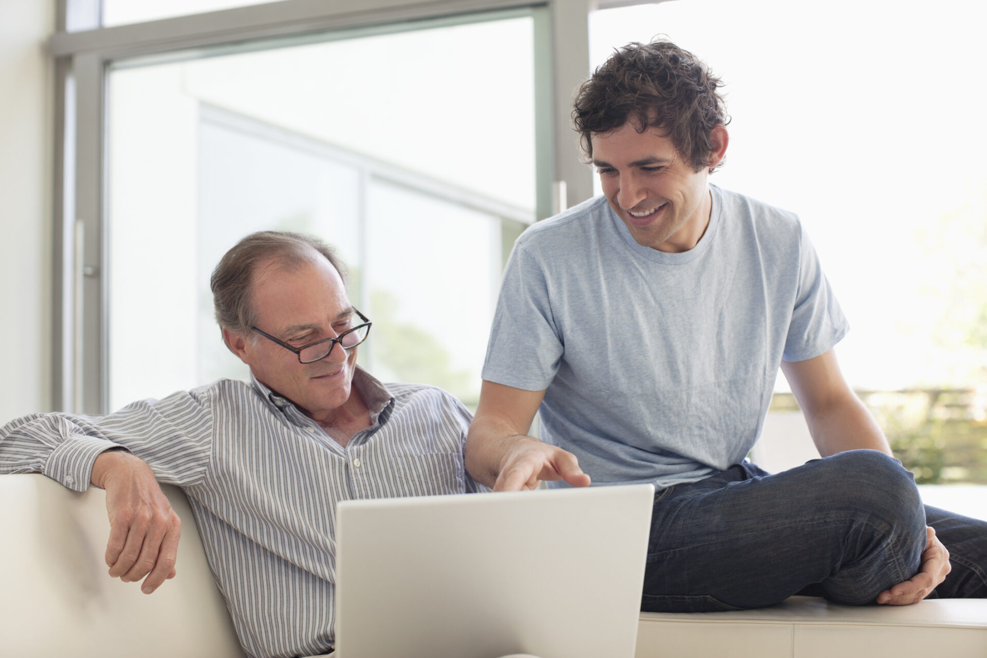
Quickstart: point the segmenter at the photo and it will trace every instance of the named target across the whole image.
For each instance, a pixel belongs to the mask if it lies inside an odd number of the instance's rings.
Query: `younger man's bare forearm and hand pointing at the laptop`
[[[544,397],[484,381],[466,439],[466,470],[474,479],[494,491],[533,489],[543,479],[589,484],[574,455],[527,435]]]

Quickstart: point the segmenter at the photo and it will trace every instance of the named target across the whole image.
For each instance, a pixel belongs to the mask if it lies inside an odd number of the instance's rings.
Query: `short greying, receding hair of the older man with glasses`
[[[346,266],[336,250],[318,238],[287,231],[259,231],[238,242],[219,260],[209,277],[219,327],[252,335],[257,310],[251,297],[259,264],[273,260],[276,266],[297,269],[319,256],[336,268],[345,286]]]

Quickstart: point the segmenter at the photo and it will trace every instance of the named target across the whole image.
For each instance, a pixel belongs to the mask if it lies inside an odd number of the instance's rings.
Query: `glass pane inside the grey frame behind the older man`
[[[267,229],[340,250],[371,371],[476,403],[504,246],[536,214],[533,19],[416,27],[114,64],[111,408],[247,377],[208,279]]]

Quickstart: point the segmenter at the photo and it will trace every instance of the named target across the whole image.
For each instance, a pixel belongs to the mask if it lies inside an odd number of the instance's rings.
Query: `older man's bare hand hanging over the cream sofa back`
[[[182,521],[151,468],[125,452],[105,452],[93,466],[92,483],[107,490],[110,575],[123,582],[144,578],[150,594],[175,577]]]

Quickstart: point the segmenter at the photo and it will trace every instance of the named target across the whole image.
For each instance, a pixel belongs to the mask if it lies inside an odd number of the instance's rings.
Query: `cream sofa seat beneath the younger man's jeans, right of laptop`
[[[729,613],[642,613],[636,658],[987,656],[987,600],[851,607],[814,597]]]

